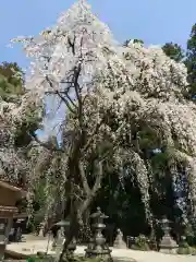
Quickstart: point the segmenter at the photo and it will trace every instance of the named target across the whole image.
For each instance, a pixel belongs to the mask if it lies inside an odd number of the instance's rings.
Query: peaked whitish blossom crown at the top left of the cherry
[[[71,69],[78,64],[83,76],[79,81],[88,88],[96,70],[107,64],[102,48],[110,47],[110,52],[114,49],[111,32],[90,13],[85,1],[75,3],[60,16],[56,26],[45,29],[38,37],[19,37],[12,41],[23,43],[27,57],[34,59],[26,88],[36,90],[39,95],[64,90],[60,83],[70,79]]]

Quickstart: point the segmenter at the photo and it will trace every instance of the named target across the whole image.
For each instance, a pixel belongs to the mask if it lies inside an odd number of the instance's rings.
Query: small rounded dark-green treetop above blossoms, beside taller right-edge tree
[[[181,62],[184,58],[184,51],[181,46],[177,44],[167,43],[163,47],[162,50],[164,53],[170,57],[171,59],[175,60],[176,62]]]

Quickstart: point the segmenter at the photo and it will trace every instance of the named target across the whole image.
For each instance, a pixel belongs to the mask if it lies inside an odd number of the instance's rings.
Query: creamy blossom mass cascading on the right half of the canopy
[[[122,47],[121,53],[121,62],[109,61],[109,71],[99,78],[100,107],[111,108],[113,122],[124,124],[122,138],[131,138],[137,126],[144,126],[157,133],[163,146],[172,147],[174,160],[186,167],[189,198],[195,200],[196,107],[186,98],[185,66],[168,58],[159,47],[145,48],[136,43]],[[134,141],[128,142],[126,147],[133,148]],[[136,163],[139,158],[137,154]],[[148,170],[143,158],[140,163],[137,175],[143,177],[140,188],[147,200]]]

